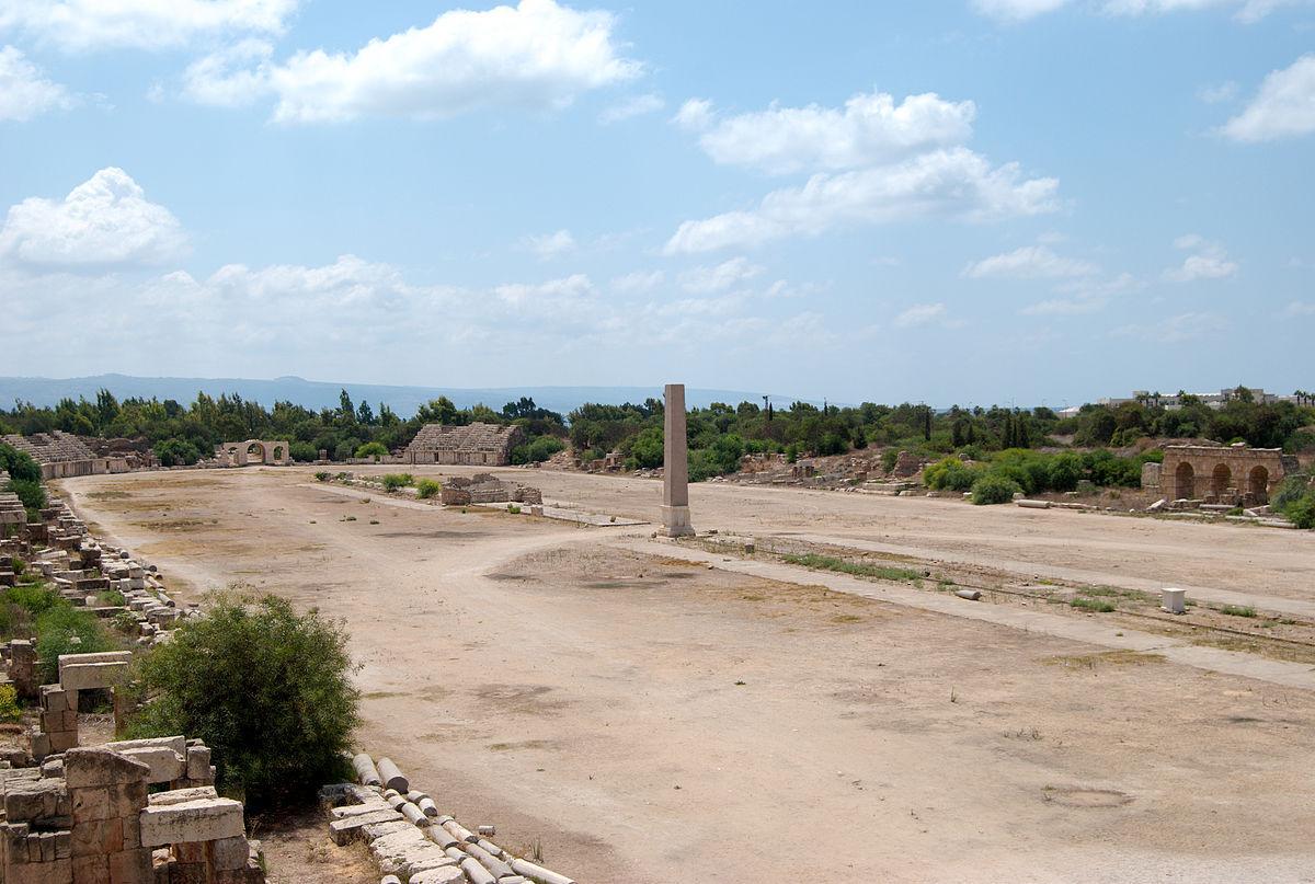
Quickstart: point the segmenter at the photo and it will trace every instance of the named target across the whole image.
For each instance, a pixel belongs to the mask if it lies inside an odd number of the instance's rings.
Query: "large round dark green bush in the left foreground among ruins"
[[[220,787],[250,808],[310,798],[343,776],[359,724],[347,633],[275,596],[220,596],[141,666],[137,737],[187,734],[214,750]]]

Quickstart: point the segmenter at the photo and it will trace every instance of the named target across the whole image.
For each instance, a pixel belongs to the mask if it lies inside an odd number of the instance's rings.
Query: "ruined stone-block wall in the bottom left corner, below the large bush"
[[[259,843],[242,804],[214,792],[209,758],[199,741],[167,737],[0,770],[0,881],[262,884]]]

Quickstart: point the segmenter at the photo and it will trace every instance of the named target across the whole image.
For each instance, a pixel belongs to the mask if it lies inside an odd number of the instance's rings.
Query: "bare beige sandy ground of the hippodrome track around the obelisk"
[[[509,475],[656,517],[652,481]],[[308,479],[135,474],[64,492],[170,579],[345,618],[362,745],[583,883],[1315,881],[1311,692],[838,595],[807,571],[640,555],[611,542],[625,529],[363,503]],[[1308,533],[693,492],[700,528],[1315,599]],[[274,852],[275,876],[320,880],[300,871],[305,845]]]

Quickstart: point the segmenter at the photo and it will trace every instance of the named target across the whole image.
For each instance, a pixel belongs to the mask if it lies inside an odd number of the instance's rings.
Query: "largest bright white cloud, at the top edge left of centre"
[[[301,51],[245,78],[216,64],[221,83],[214,89],[204,82],[189,86],[230,103],[272,93],[280,122],[435,120],[483,107],[560,109],[580,92],[639,75],[639,63],[619,55],[614,25],[608,12],[576,12],[554,0],[454,9],[355,53]],[[237,83],[245,99],[234,95]]]

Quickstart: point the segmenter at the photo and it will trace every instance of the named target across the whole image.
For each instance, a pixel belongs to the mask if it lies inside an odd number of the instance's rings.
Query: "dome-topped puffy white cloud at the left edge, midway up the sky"
[[[0,260],[47,268],[158,264],[187,251],[178,218],[121,168],[103,168],[63,200],[9,208]]]

